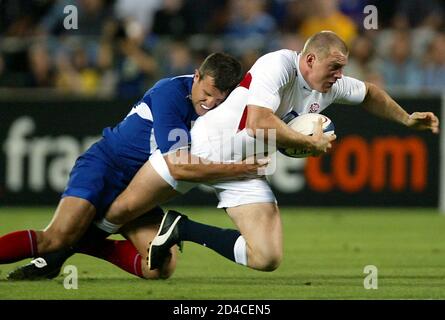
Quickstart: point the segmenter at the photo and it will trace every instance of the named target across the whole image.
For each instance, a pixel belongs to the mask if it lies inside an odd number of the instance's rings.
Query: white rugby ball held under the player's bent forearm
[[[314,130],[320,118],[323,121],[323,133],[327,135],[334,134],[335,127],[331,119],[329,119],[325,115],[318,113],[302,114],[295,117],[287,125],[292,130],[295,130],[307,136],[311,136],[312,134],[314,134]],[[279,148],[278,150],[282,154],[291,158],[306,158],[312,155],[310,150],[303,148]]]

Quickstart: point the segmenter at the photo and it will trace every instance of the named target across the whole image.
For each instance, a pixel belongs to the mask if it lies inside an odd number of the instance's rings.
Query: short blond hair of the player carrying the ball
[[[315,53],[321,59],[326,58],[332,51],[340,51],[348,55],[349,49],[346,43],[335,32],[321,31],[307,39],[304,44],[302,55]]]

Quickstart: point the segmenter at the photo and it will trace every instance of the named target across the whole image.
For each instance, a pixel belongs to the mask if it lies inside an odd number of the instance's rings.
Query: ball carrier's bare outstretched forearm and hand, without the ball
[[[366,95],[363,108],[381,118],[398,122],[416,130],[439,132],[439,119],[432,112],[408,114],[388,93],[376,85],[365,82]]]

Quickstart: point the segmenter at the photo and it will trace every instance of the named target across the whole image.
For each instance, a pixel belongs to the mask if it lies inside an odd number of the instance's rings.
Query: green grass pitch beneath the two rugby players
[[[185,208],[191,218],[231,226],[217,209]],[[0,209],[0,234],[43,228],[51,208]],[[282,209],[284,260],[262,273],[186,243],[172,278],[144,281],[84,255],[77,290],[56,280],[9,282],[19,265],[0,266],[0,299],[444,299],[445,217],[427,209]],[[23,262],[21,262],[23,263]],[[366,290],[366,265],[378,268],[378,289]]]

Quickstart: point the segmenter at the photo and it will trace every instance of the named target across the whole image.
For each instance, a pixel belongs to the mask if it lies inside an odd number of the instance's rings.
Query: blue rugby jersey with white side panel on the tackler
[[[103,130],[119,166],[138,169],[157,148],[164,153],[190,143],[191,122],[198,117],[189,98],[192,84],[193,75],[158,81],[123,121]],[[180,145],[174,129],[180,129]]]

